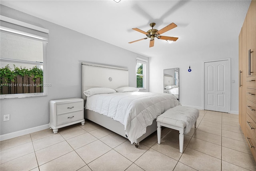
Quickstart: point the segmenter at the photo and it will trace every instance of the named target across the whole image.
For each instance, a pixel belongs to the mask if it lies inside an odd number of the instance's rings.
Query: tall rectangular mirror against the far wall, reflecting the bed
[[[164,93],[172,94],[180,101],[179,68],[164,69]]]

